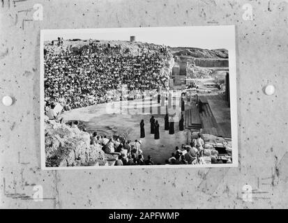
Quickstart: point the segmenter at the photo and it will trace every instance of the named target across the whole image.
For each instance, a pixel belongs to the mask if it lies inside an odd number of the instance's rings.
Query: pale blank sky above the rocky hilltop
[[[43,36],[42,36],[43,35]],[[112,29],[45,29],[43,40],[79,38],[82,40],[130,40],[155,43],[170,47],[197,47],[202,49],[234,49],[234,26],[176,26]]]

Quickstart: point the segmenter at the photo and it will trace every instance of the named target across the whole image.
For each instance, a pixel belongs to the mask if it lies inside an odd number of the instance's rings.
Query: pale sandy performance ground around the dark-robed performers
[[[140,139],[139,123],[144,119],[146,137],[142,139],[141,147],[144,152],[144,157],[146,158],[148,155],[151,155],[155,164],[164,164],[165,160],[175,151],[176,146],[181,147],[181,144],[185,144],[187,133],[185,131],[179,131],[179,121],[177,121],[177,118],[175,118],[174,123],[175,134],[169,134],[169,131],[164,130],[164,116],[166,114],[167,102],[165,102],[165,105],[162,107],[155,101],[146,101],[142,104],[142,107],[139,106],[139,103],[135,105],[136,102],[129,101],[129,105],[123,106],[123,108],[134,108],[133,112],[130,112],[129,109],[129,112],[125,112],[126,114],[120,114],[119,109],[113,110],[112,103],[108,103],[73,109],[72,111],[65,112],[63,118],[67,121],[84,121],[87,131],[97,131],[100,134],[107,135],[107,137],[129,132],[127,139],[131,139],[132,141]],[[114,105],[114,107],[117,106],[119,107],[119,102],[116,102]],[[150,106],[153,108],[152,111],[149,109]],[[116,113],[114,113],[115,111]],[[159,114],[157,111],[160,111]],[[151,112],[153,112],[153,116],[160,124],[160,139],[157,140],[154,139],[153,134],[150,134],[149,120],[152,115]],[[175,112],[180,115],[181,107],[175,106],[169,109],[169,114]]]

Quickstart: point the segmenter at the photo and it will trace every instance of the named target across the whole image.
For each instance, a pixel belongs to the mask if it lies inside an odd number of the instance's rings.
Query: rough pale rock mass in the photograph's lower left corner
[[[108,165],[99,145],[90,145],[90,134],[55,121],[45,121],[46,167]]]

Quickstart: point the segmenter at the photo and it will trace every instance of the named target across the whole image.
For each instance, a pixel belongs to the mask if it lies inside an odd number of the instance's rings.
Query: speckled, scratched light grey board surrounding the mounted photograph
[[[225,24],[236,25],[238,168],[40,170],[40,29]],[[0,105],[0,208],[288,208],[287,28],[288,1],[1,0],[0,96],[15,101]]]

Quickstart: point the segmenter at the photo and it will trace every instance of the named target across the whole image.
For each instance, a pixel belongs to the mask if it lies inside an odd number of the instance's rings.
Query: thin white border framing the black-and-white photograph
[[[143,165],[143,166],[91,166],[91,167],[46,167],[45,165],[45,122],[44,122],[44,36],[49,33],[101,33],[111,31],[123,31],[124,29],[218,29],[229,33],[231,43],[224,47],[229,55],[229,93],[230,93],[230,116],[232,130],[232,164],[195,164],[195,165]],[[213,38],[213,37],[212,37]],[[75,169],[188,169],[188,168],[215,168],[215,167],[238,167],[238,122],[237,122],[237,84],[236,84],[236,46],[235,26],[163,26],[163,27],[137,27],[137,28],[105,28],[105,29],[41,29],[40,30],[40,164],[42,170],[75,170]],[[192,46],[190,46],[192,47]]]

